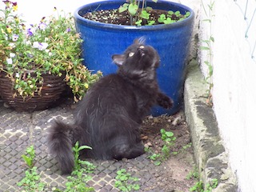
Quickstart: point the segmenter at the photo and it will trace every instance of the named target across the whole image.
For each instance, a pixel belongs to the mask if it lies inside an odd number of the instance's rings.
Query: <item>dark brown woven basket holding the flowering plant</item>
[[[44,82],[41,95],[34,93],[33,97],[28,97],[24,100],[21,96],[14,97],[13,83],[6,77],[6,73],[1,71],[0,95],[2,100],[10,107],[19,111],[46,110],[53,106],[61,97],[61,94],[66,89],[66,82],[63,81],[64,75],[58,77],[51,74],[42,74],[42,78]],[[37,86],[41,85],[38,84]]]

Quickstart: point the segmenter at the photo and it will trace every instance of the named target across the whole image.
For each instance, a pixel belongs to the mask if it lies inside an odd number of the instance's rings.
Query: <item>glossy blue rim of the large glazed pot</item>
[[[99,4],[107,4],[110,2],[117,2],[118,4],[120,4],[120,2],[126,2],[126,1],[117,1],[117,0],[107,1],[106,0],[106,1],[102,1],[102,2],[91,2],[91,3],[85,4],[84,6],[80,6],[80,7],[78,7],[77,10],[74,11],[74,18],[75,18],[76,22],[82,22],[82,23],[86,24],[86,26],[92,26],[95,28],[104,27],[104,28],[108,28],[111,30],[164,30],[164,29],[170,29],[170,28],[184,26],[184,25],[187,25],[187,23],[190,23],[194,20],[194,11],[191,10],[190,7],[184,6],[177,2],[169,2],[169,1],[164,1],[164,0],[158,1],[157,3],[165,2],[172,6],[177,6],[181,9],[190,11],[190,16],[188,18],[185,18],[182,21],[174,22],[171,24],[161,24],[161,25],[153,25],[153,26],[124,26],[124,25],[116,25],[116,24],[103,23],[103,22],[94,22],[94,21],[91,21],[90,19],[83,18],[79,14],[79,12],[81,12],[81,10],[84,10],[87,7],[96,6]]]

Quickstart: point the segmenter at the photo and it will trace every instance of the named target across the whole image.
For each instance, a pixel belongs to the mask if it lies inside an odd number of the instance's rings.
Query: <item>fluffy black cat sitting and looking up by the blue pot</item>
[[[156,80],[159,56],[152,46],[135,40],[124,54],[114,54],[117,74],[101,78],[78,103],[74,123],[55,122],[50,127],[48,147],[63,174],[74,167],[72,146],[75,142],[91,146],[87,158],[136,158],[144,153],[139,126],[158,104],[166,109],[172,100],[162,94]]]

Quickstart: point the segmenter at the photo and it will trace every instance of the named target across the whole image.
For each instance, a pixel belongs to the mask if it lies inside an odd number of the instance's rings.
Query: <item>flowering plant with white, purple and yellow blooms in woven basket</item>
[[[82,39],[75,31],[71,14],[42,18],[37,25],[26,27],[16,14],[17,3],[3,2],[6,7],[0,10],[0,72],[13,82],[14,96],[40,95],[42,74],[65,74],[63,80],[70,86],[74,101],[80,100],[102,74],[91,74],[82,65]]]

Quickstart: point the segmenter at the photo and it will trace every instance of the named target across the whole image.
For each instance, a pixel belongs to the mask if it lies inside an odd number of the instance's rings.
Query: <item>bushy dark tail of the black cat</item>
[[[72,147],[77,141],[82,144],[82,127],[56,121],[48,131],[47,146],[50,154],[57,159],[62,174],[70,174],[74,168]]]

